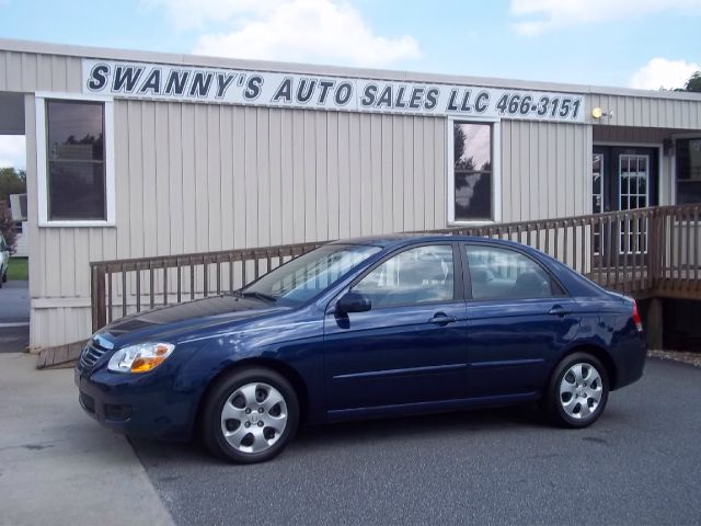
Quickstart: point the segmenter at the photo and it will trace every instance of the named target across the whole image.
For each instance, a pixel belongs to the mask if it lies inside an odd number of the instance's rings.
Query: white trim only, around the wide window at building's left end
[[[49,220],[48,219],[48,173],[46,160],[46,101],[87,101],[104,103],[105,129],[105,220]],[[80,93],[36,92],[36,190],[38,197],[39,227],[114,227],[115,224],[115,170],[114,170],[114,99]]]

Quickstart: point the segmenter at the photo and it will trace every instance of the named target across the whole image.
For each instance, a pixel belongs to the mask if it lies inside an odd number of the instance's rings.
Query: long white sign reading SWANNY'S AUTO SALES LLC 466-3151
[[[83,93],[173,102],[584,122],[584,98],[502,88],[83,59]]]

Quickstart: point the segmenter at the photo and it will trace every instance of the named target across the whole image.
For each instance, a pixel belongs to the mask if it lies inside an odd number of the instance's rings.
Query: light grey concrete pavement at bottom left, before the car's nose
[[[0,525],[171,526],[122,435],[78,404],[73,373],[0,355]]]

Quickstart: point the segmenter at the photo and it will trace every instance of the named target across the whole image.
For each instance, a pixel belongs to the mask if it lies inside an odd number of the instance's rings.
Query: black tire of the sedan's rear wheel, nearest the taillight
[[[584,381],[577,381],[574,374],[571,373],[571,368],[577,364],[582,364],[583,373],[585,370],[596,371],[599,379],[595,380],[593,385],[591,381],[588,381],[591,379],[591,376],[588,376],[591,375],[591,373],[587,373],[586,375],[582,375]],[[568,375],[565,385],[568,386],[570,381],[574,379],[574,386],[579,387],[573,387],[572,393],[564,392],[561,396],[560,387],[563,385],[565,375]],[[596,395],[598,395],[599,391],[596,389],[596,384],[600,384],[600,398],[598,402],[596,402]],[[545,415],[553,424],[562,427],[587,427],[601,416],[601,413],[606,409],[606,402],[609,399],[609,378],[606,368],[596,356],[589,353],[575,353],[565,356],[555,367],[548,384],[548,390],[543,396]],[[583,408],[584,403],[589,408],[589,412]],[[579,408],[577,408],[577,404]],[[570,408],[570,411],[565,410],[565,405]],[[588,414],[585,414],[587,412]]]

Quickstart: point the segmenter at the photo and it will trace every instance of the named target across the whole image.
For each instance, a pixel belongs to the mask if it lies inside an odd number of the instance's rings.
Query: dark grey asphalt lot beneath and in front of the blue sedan
[[[586,430],[528,408],[302,430],[268,464],[133,441],[176,523],[698,524],[701,369],[648,361]]]

